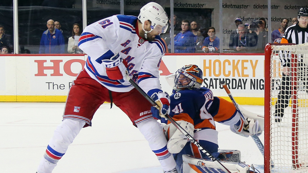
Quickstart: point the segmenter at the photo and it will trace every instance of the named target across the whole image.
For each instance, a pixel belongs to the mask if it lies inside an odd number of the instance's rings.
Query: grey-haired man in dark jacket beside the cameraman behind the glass
[[[234,51],[253,51],[257,46],[257,34],[247,32],[245,25],[237,26],[238,34],[230,38],[229,48]]]

